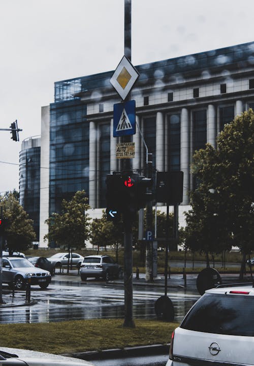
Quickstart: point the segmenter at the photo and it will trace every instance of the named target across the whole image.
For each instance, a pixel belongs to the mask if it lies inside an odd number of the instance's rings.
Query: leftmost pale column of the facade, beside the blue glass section
[[[97,126],[94,122],[89,124],[89,205],[97,206]]]

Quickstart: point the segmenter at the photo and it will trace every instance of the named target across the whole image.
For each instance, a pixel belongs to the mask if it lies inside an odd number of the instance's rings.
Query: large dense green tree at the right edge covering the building
[[[225,125],[217,148],[207,144],[194,154],[192,170],[198,183],[186,214],[186,245],[192,250],[220,253],[232,245],[245,255],[254,250],[254,113],[243,112]]]

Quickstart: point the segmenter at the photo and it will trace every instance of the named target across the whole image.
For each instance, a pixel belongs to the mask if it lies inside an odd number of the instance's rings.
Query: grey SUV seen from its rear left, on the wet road
[[[80,266],[82,281],[86,281],[87,277],[103,278],[105,281],[109,281],[111,278],[121,279],[122,276],[121,266],[108,255],[86,256]]]

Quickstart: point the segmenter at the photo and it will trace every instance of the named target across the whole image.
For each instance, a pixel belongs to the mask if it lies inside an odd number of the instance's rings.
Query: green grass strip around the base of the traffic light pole
[[[54,354],[122,349],[169,343],[173,329],[178,326],[158,320],[134,322],[135,328],[123,328],[123,319],[1,324],[1,346]]]

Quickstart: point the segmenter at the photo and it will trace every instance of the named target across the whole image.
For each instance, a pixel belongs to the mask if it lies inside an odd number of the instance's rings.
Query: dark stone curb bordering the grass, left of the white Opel
[[[170,343],[165,345],[149,345],[149,346],[139,346],[139,347],[125,347],[108,349],[102,351],[87,351],[87,352],[77,352],[77,353],[65,353],[61,356],[68,356],[74,358],[80,358],[86,361],[92,360],[104,360],[110,358],[124,358],[124,357],[137,357],[149,355],[159,355],[169,353]]]

